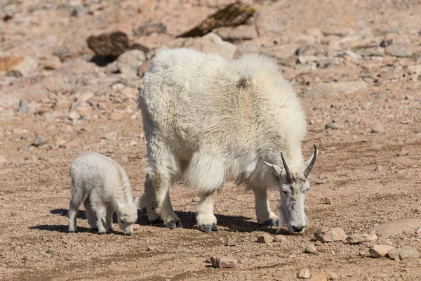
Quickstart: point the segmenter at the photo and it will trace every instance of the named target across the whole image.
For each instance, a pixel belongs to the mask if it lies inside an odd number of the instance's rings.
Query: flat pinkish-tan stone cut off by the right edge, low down
[[[421,218],[407,218],[400,221],[384,223],[368,230],[375,231],[378,237],[390,237],[399,233],[414,233],[414,230],[421,226]]]

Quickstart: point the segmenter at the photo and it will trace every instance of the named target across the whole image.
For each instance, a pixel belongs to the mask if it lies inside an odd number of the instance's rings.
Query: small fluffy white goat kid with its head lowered
[[[70,165],[70,176],[69,232],[76,231],[76,214],[84,199],[91,230],[98,228],[98,233],[113,230],[112,215],[116,211],[123,233],[133,233],[133,224],[138,219],[139,198],[136,197],[133,202],[126,171],[119,163],[95,152],[85,152]]]

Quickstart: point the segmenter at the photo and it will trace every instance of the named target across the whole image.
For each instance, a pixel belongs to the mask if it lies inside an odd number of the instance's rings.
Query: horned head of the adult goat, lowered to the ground
[[[293,174],[281,152],[283,171],[279,166],[265,162],[272,168],[274,174],[279,178],[279,190],[281,192],[281,222],[279,226],[286,224],[291,233],[304,233],[307,216],[305,215],[305,195],[309,191],[309,174],[316,162],[318,150],[314,145],[314,154],[307,161],[305,171],[302,175]]]

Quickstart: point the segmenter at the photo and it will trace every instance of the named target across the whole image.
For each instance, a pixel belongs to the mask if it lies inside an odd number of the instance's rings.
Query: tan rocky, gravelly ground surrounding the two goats
[[[228,184],[220,231],[67,233],[69,164],[100,152],[142,195],[138,88],[158,48],[274,58],[319,158],[303,235],[260,226]],[[0,280],[420,280],[421,2],[6,0],[0,3]],[[272,209],[278,204],[270,193]],[[115,225],[116,228],[118,228]]]

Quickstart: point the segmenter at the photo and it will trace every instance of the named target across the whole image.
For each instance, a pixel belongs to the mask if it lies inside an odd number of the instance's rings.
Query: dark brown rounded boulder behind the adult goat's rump
[[[88,47],[101,57],[117,58],[129,48],[127,34],[121,31],[92,35],[87,43]]]

